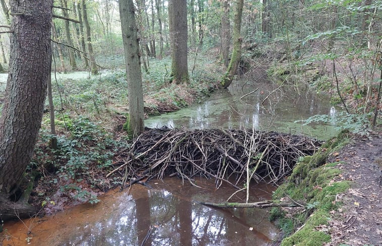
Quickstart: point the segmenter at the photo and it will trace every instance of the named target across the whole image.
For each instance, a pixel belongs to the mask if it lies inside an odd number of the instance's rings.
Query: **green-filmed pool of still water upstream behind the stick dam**
[[[256,88],[258,88],[256,92],[240,99]],[[324,140],[338,134],[334,125],[304,126],[303,123],[295,123],[316,114],[330,114],[335,117],[337,109],[330,105],[328,97],[314,92],[300,92],[299,96],[294,88],[284,88],[271,94],[269,100],[262,105],[265,97],[274,90],[275,87],[266,80],[252,84],[234,81],[229,90],[217,90],[205,101],[189,108],[150,117],[145,120],[145,126],[235,129],[254,127],[261,130],[306,134]]]

